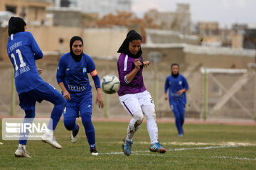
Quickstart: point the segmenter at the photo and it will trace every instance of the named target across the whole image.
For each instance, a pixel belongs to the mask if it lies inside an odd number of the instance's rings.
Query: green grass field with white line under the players
[[[185,124],[185,135],[178,137],[173,123],[159,123],[159,141],[167,149],[159,154],[149,152],[149,135],[143,123],[127,157],[121,145],[128,123],[94,125],[97,157],[90,155],[83,127],[73,144],[61,121],[55,137],[63,149],[28,141],[26,148],[32,158],[16,158],[18,141],[0,140],[0,169],[256,169],[256,126]]]

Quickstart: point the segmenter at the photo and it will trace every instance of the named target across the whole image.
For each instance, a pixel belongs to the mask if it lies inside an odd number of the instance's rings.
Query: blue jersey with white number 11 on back
[[[36,89],[44,83],[35,62],[43,57],[43,53],[31,33],[26,31],[11,34],[7,43],[7,53],[14,66],[18,94]]]

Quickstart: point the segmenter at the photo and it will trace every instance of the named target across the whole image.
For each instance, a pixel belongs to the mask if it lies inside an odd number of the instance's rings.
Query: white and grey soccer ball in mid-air
[[[102,87],[102,91],[104,91],[106,94],[114,94],[120,88],[120,81],[116,76],[107,74],[101,79],[100,85]]]

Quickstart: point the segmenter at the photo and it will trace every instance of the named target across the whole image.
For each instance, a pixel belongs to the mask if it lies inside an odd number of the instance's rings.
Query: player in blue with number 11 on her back
[[[54,104],[50,115],[49,130],[42,140],[55,148],[62,147],[53,137],[60,116],[65,108],[65,98],[50,84],[43,81],[39,76],[41,69],[36,68],[36,61],[43,57],[33,35],[26,30],[26,23],[22,18],[11,17],[9,20],[9,40],[7,43],[7,52],[11,63],[14,66],[15,86],[20,100],[19,105],[25,111],[23,123],[32,123],[35,118],[36,101],[46,100]],[[20,136],[23,136],[21,133]],[[28,133],[25,133],[28,135]],[[15,152],[16,157],[30,157],[26,151],[27,137],[20,137],[18,149]]]

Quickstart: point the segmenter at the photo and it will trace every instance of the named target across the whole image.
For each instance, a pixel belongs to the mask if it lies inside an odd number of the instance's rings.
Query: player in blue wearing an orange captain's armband
[[[57,81],[67,99],[67,105],[63,113],[64,125],[71,132],[71,142],[78,140],[80,125],[75,123],[76,118],[81,116],[82,125],[90,146],[92,155],[97,156],[95,145],[95,129],[92,125],[92,87],[89,77],[91,74],[97,90],[96,103],[103,108],[100,78],[97,75],[95,63],[89,55],[82,52],[82,38],[74,36],[70,39],[70,52],[60,57],[57,69]]]

